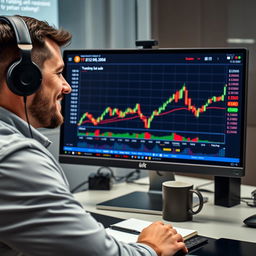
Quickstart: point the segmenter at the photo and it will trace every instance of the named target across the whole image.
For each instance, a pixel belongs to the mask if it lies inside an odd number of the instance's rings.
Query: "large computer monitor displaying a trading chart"
[[[66,50],[64,62],[60,162],[244,175],[246,49]]]

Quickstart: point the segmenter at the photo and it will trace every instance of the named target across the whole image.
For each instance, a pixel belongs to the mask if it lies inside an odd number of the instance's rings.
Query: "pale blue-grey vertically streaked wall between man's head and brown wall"
[[[150,1],[60,0],[59,23],[74,36],[69,48],[134,48],[151,36]]]

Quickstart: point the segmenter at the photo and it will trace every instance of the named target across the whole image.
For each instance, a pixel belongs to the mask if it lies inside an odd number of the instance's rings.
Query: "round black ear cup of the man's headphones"
[[[39,67],[33,62],[14,62],[7,71],[7,85],[9,89],[19,95],[28,96],[35,93],[42,82]]]

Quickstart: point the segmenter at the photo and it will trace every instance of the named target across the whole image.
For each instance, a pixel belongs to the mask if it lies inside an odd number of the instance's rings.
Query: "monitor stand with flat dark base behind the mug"
[[[97,209],[162,215],[162,183],[175,180],[172,172],[149,171],[149,191],[135,191],[96,205]],[[207,198],[204,198],[207,201]],[[193,206],[198,197],[193,198]]]

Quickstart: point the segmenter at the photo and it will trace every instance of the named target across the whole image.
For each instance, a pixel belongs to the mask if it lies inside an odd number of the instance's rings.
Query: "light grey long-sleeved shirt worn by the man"
[[[154,255],[109,236],[69,191],[50,141],[0,107],[0,255]]]

